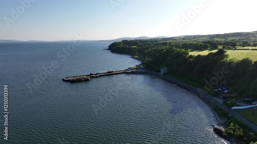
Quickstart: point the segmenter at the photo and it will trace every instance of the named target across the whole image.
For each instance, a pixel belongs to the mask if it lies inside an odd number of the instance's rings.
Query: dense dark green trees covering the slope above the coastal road
[[[226,45],[232,43],[224,42]],[[216,47],[215,42],[182,43],[162,45],[147,40],[122,40],[109,45],[108,50],[115,53],[137,55],[146,68],[160,71],[162,66],[167,66],[168,72],[177,74],[196,81],[201,85],[206,80],[216,77],[215,73],[222,71],[227,66],[229,73],[215,82],[213,88],[224,87],[239,95],[257,99],[257,61],[249,58],[240,61],[228,59],[224,49],[210,52],[208,55],[189,55],[189,48],[200,50]],[[225,81],[226,79],[226,81]],[[217,83],[217,84],[216,84]]]

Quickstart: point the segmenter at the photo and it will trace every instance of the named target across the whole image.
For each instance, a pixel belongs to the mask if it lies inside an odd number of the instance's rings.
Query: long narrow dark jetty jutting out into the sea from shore
[[[121,71],[107,71],[104,73],[90,73],[87,75],[78,75],[78,76],[68,76],[68,77],[64,77],[62,78],[63,81],[69,81],[70,83],[75,83],[75,82],[81,82],[81,81],[88,81],[91,78],[95,78],[95,77],[101,77],[101,76],[108,76],[108,75],[115,75],[115,74],[130,74],[130,73],[134,73],[134,69],[132,70],[121,70]]]

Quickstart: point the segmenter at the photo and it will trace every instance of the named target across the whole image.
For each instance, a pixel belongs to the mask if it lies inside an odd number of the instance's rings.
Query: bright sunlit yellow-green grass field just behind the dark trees
[[[248,47],[250,48],[250,47]],[[205,50],[205,51],[193,51],[189,54],[191,55],[207,55],[210,52],[216,52],[217,50]],[[227,50],[229,58],[234,58],[235,60],[241,60],[243,58],[249,57],[252,61],[257,61],[257,51],[256,50]]]

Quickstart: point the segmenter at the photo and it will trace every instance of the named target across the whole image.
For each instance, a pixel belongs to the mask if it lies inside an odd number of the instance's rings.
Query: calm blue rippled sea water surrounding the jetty
[[[122,70],[140,61],[106,42],[0,44],[0,143],[224,143],[195,94],[148,75],[113,75],[83,83],[62,77]],[[8,141],[4,85],[8,85]],[[226,143],[226,142],[225,142]]]

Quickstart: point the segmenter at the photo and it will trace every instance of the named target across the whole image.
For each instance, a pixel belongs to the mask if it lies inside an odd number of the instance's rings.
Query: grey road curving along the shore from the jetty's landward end
[[[221,101],[216,100],[213,96],[211,96],[210,94],[206,93],[204,90],[200,90],[197,87],[194,87],[192,85],[189,85],[187,83],[184,83],[180,80],[177,80],[175,78],[171,78],[165,75],[162,75],[160,73],[157,72],[153,72],[147,69],[139,69],[137,72],[135,72],[135,74],[151,74],[151,75],[155,75],[161,79],[170,81],[173,84],[176,84],[182,88],[185,88],[197,95],[200,95],[201,97],[207,98],[209,100],[212,100],[215,104],[217,104],[218,106],[222,107],[226,112],[228,112],[229,114],[231,114],[234,118],[236,118],[237,120],[243,122],[246,126],[248,126],[249,128],[251,128],[253,131],[257,132],[257,126],[254,125],[252,122],[250,122],[249,120],[247,120],[246,118],[244,118],[243,116],[241,116],[240,114],[236,113],[234,110],[232,110],[231,108],[227,107],[226,105],[224,105]]]

